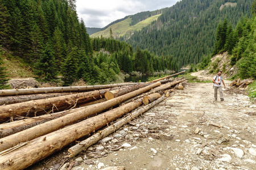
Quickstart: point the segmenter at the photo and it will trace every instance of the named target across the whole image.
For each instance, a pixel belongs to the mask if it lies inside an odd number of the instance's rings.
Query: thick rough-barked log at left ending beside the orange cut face
[[[85,103],[86,101],[101,99],[102,97],[104,97],[106,91],[107,90],[90,91],[67,96],[52,97],[49,99],[40,99],[26,101],[23,103],[1,105],[0,122],[9,120],[10,117],[15,117],[16,115],[27,117],[31,114],[34,115],[38,112],[46,112],[48,109],[52,108],[67,108],[66,106],[69,107],[72,104]]]

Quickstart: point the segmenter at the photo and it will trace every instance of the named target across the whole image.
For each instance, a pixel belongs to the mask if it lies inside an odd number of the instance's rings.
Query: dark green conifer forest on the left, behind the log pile
[[[18,58],[38,80],[69,86],[120,80],[121,73],[177,70],[172,57],[157,57],[112,37],[91,39],[78,20],[75,0],[0,0],[0,80],[2,58]],[[101,51],[101,52],[100,52]],[[4,86],[1,86],[3,88]]]

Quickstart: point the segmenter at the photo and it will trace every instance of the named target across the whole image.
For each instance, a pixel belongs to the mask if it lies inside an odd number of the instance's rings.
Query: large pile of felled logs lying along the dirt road
[[[167,76],[148,83],[100,85],[93,91],[87,91],[88,87],[0,91],[1,96],[7,96],[0,100],[0,169],[27,168],[85,138],[69,148],[68,156],[75,156],[163,101],[183,82],[183,78]],[[53,95],[47,94],[50,92]],[[10,102],[19,95],[33,98]]]

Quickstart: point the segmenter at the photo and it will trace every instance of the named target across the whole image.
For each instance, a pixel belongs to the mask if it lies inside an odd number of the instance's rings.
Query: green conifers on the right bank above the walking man
[[[242,17],[235,28],[230,20],[219,23],[214,54],[228,52],[231,65],[237,65],[240,78],[256,78],[256,1],[251,7],[252,18]]]

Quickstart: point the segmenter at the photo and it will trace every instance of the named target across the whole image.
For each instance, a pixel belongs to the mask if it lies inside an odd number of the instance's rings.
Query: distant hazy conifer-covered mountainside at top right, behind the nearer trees
[[[250,16],[252,1],[179,1],[164,10],[156,22],[121,40],[159,56],[173,56],[179,67],[198,63],[212,54],[218,23],[226,18],[234,27],[241,16]],[[231,3],[222,6],[226,2]]]

